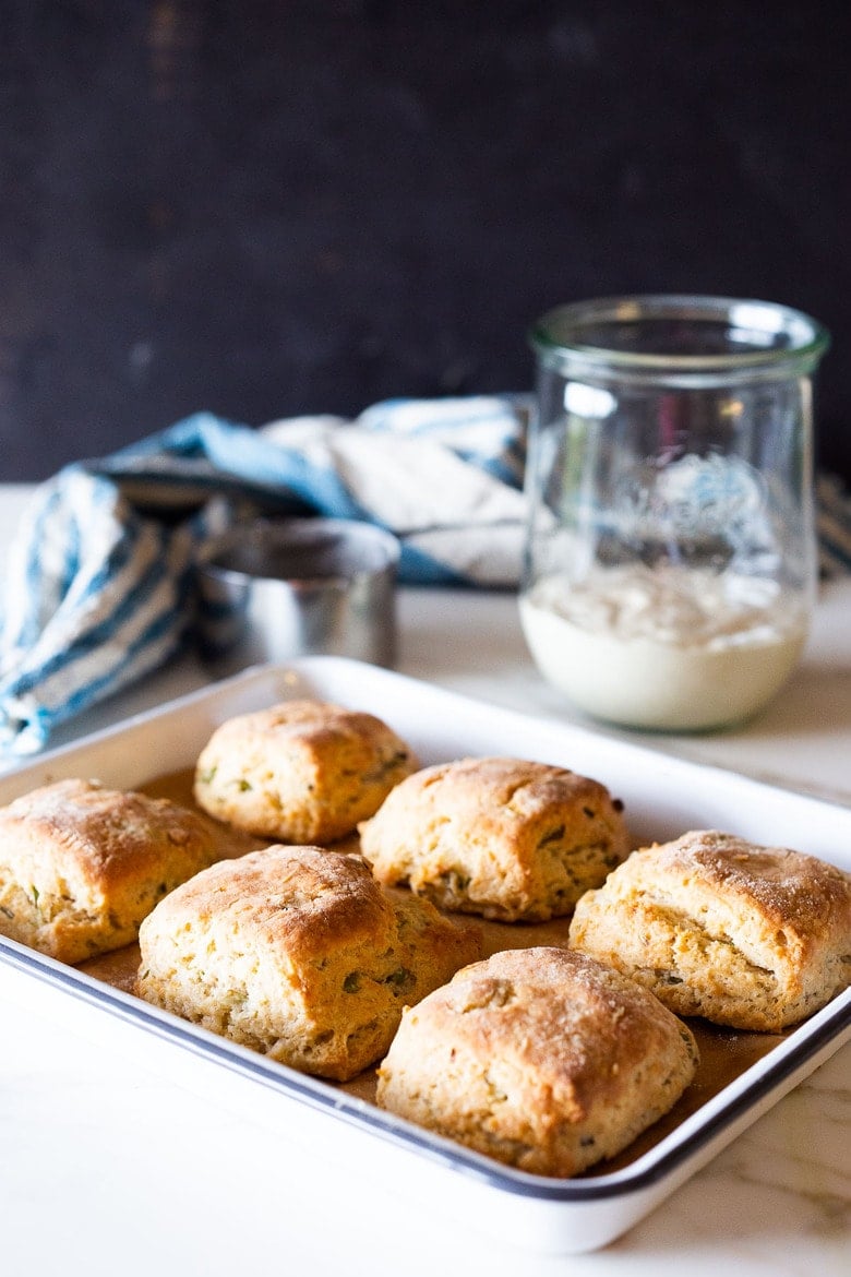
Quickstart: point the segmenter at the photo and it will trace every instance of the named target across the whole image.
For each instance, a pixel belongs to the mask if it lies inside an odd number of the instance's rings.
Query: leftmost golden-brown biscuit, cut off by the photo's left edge
[[[59,780],[0,810],[0,933],[66,963],[119,949],[230,850],[212,820],[166,798]]]

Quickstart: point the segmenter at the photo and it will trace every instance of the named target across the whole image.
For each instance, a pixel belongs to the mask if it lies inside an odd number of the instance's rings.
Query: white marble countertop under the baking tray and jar
[[[0,485],[0,547],[24,495]],[[399,626],[404,673],[577,720],[533,670],[513,596],[404,590]],[[64,727],[55,743],[205,682],[182,658]],[[759,719],[717,736],[630,739],[851,805],[851,581],[822,591],[804,660]],[[318,1194],[324,1172],[310,1148],[293,1175],[272,1131],[56,1023],[22,1000],[19,979],[1,967],[0,1131],[0,1271],[9,1277],[851,1271],[851,1046],[619,1241],[566,1258],[496,1246],[435,1218],[427,1202],[412,1212],[392,1191],[371,1218],[339,1184],[333,1197]]]

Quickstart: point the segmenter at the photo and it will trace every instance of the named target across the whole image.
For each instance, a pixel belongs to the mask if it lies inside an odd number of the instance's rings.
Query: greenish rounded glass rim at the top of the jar
[[[729,350],[632,349],[635,335],[665,323],[725,329]],[[620,344],[601,340],[606,328],[620,332]],[[547,310],[528,333],[542,365],[573,373],[605,368],[637,374],[706,375],[736,372],[787,373],[790,364],[813,369],[831,345],[828,329],[792,306],[758,299],[702,294],[634,294],[574,301]]]

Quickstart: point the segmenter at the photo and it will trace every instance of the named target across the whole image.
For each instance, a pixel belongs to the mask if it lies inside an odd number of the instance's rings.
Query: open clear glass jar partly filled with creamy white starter
[[[806,640],[827,331],[766,301],[634,296],[559,306],[531,342],[519,607],[540,670],[626,727],[749,718]]]

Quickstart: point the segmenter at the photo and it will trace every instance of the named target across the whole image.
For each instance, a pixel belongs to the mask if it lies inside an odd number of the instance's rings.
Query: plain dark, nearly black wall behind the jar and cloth
[[[851,5],[0,0],[0,479],[186,412],[532,384],[560,303],[833,333],[851,478]]]

